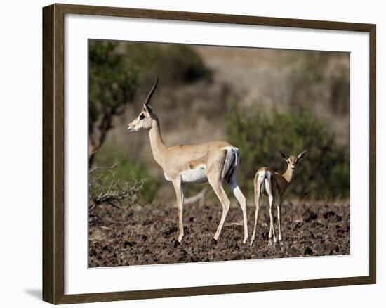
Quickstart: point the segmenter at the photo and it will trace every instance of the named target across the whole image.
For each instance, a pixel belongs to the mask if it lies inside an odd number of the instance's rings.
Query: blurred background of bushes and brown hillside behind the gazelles
[[[257,169],[285,171],[279,150],[307,150],[288,195],[349,197],[348,53],[89,41],[90,167],[114,165],[105,172],[108,180],[140,182],[142,203],[174,203],[147,132],[126,130],[155,75],[151,105],[166,145],[225,140],[237,146],[239,182],[249,198]],[[92,180],[93,174],[100,172]],[[187,194],[201,188],[191,185]]]

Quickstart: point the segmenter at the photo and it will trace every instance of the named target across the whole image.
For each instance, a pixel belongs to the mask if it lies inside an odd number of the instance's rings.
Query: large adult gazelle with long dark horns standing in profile
[[[178,205],[180,233],[178,241],[184,236],[182,210],[184,207],[184,185],[208,181],[222,205],[222,215],[215,233],[215,240],[220,236],[222,225],[229,210],[230,201],[224,191],[223,184],[229,184],[234,196],[243,211],[244,240],[248,238],[246,224],[246,198],[237,185],[237,168],[239,167],[239,150],[225,141],[212,141],[189,146],[171,146],[164,144],[161,137],[159,119],[149,106],[149,101],[157,88],[158,78],[147,95],[138,117],[128,124],[128,131],[149,131],[150,146],[154,160],[164,170],[166,180],[174,186]]]

